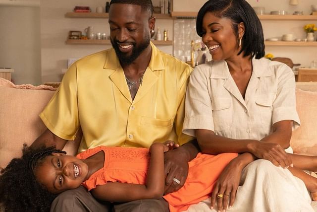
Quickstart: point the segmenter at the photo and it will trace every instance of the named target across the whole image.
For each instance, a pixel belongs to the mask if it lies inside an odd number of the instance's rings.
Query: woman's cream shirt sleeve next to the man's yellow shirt
[[[187,87],[183,133],[190,136],[195,136],[196,129],[214,132],[209,94],[210,77],[207,71],[200,66],[196,67]]]

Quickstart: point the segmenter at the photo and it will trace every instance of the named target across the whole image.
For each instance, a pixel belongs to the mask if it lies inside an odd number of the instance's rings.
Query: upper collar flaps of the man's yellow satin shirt
[[[149,69],[152,71],[164,70],[165,66],[159,49],[152,42],[150,42],[150,45],[152,47],[152,55],[148,66]],[[114,49],[111,48],[106,55],[104,69],[117,70],[119,68],[121,68],[119,59],[115,54]]]

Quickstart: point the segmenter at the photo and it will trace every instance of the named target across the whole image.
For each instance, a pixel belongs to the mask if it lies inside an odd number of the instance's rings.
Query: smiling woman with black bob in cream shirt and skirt
[[[317,179],[302,169],[316,171],[307,162],[315,157],[284,150],[300,125],[292,70],[263,58],[261,22],[245,0],[207,1],[196,26],[213,61],[190,76],[183,133],[196,136],[202,152],[240,153],[220,175],[211,209],[313,212],[306,187],[316,192]]]

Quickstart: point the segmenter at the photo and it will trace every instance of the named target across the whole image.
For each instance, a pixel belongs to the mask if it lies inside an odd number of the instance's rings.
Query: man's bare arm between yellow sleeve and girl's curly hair
[[[44,133],[39,136],[32,144],[31,148],[39,148],[45,146],[55,146],[57,149],[63,149],[67,140],[61,139],[54,135],[49,129],[46,129]]]

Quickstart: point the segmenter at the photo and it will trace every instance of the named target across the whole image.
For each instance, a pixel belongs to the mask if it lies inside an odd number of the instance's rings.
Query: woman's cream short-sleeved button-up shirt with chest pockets
[[[225,61],[196,67],[186,94],[183,133],[195,136],[195,129],[206,129],[226,138],[261,140],[276,122],[293,120],[293,129],[298,127],[292,70],[264,58],[253,59],[252,65],[245,99]]]

